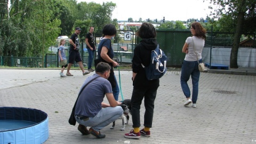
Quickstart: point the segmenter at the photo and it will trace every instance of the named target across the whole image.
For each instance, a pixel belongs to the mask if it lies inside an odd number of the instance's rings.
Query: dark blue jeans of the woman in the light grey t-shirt
[[[202,59],[199,60],[199,62],[202,62]],[[191,75],[192,85],[193,85],[192,102],[196,103],[197,96],[198,96],[198,83],[199,83],[199,77],[200,77],[198,62],[184,60],[181,68],[180,84],[181,84],[181,89],[184,95],[186,96],[186,98],[190,98],[190,90],[187,83],[190,75]]]

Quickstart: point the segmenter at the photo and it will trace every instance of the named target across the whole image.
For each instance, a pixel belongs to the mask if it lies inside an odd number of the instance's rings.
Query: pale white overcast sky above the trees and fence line
[[[200,19],[206,18],[210,14],[208,9],[209,1],[203,0],[77,0],[77,2],[95,2],[102,4],[102,2],[113,2],[116,8],[113,11],[112,19],[128,20],[132,18],[134,21],[150,19],[162,20],[182,20],[185,21],[190,18]]]

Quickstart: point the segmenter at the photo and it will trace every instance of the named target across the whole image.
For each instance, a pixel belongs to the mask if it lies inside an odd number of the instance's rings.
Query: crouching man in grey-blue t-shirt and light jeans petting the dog
[[[123,114],[122,107],[117,106],[121,102],[115,100],[111,84],[107,80],[110,68],[108,63],[100,62],[96,67],[96,73],[85,79],[83,86],[91,79],[98,77],[82,91],[75,109],[75,118],[79,123],[78,130],[82,134],[91,133],[98,139],[106,137],[105,134],[100,133],[100,130],[116,121]],[[105,95],[109,104],[103,102]],[[87,126],[91,126],[89,131]]]

